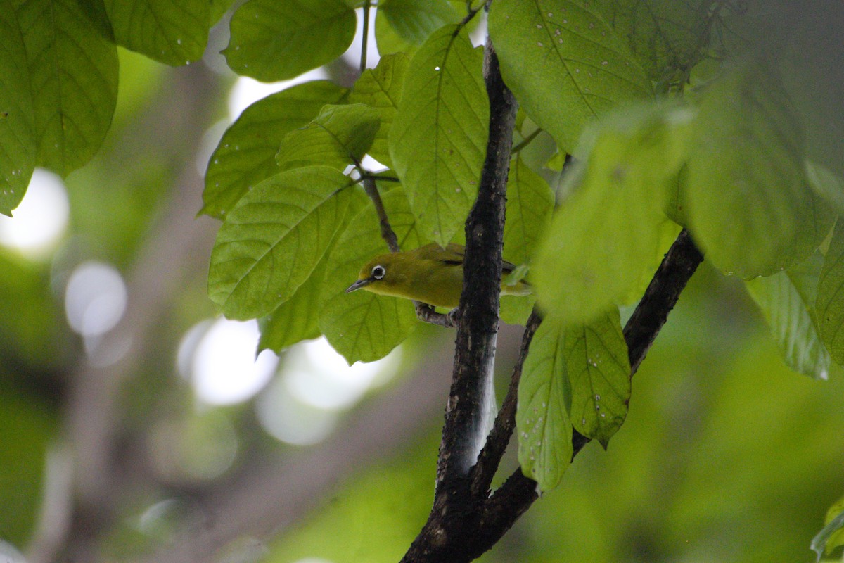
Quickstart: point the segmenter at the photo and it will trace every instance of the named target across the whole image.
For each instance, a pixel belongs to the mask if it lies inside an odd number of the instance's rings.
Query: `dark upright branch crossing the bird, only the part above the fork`
[[[483,446],[492,404],[507,172],[517,104],[501,80],[489,40],[484,79],[490,98],[490,135],[478,198],[466,221],[461,317],[437,468],[439,485],[468,475]]]

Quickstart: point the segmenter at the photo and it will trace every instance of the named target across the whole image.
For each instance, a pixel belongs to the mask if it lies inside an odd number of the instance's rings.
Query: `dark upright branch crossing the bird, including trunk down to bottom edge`
[[[469,471],[486,435],[493,405],[492,375],[501,277],[507,172],[516,100],[501,79],[487,40],[484,79],[490,134],[478,198],[466,221],[463,293],[457,322],[452,389],[446,405],[434,506],[403,561],[463,561],[475,554],[469,534],[479,530],[484,499],[471,493]]]

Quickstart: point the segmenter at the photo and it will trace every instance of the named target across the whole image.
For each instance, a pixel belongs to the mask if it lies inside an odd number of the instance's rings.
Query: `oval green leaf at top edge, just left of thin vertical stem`
[[[235,73],[285,80],[342,55],[355,29],[343,0],[250,0],[232,16],[223,54]]]

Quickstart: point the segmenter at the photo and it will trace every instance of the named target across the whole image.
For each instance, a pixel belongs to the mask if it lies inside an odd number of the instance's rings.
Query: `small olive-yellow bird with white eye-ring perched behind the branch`
[[[460,303],[463,290],[463,245],[450,244],[445,248],[436,243],[419,246],[407,252],[392,252],[372,258],[361,268],[358,280],[349,285],[346,293],[361,288],[378,295],[391,295],[422,301],[428,305],[452,309]],[[501,262],[502,277],[516,269],[516,265]],[[504,295],[527,295],[531,287],[524,281],[505,284]]]

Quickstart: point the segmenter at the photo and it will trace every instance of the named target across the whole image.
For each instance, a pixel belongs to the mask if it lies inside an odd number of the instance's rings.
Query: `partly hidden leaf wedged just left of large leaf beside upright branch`
[[[387,136],[398,111],[404,77],[409,66],[410,59],[402,53],[381,57],[376,68],[367,68],[360,75],[349,95],[349,103],[366,104],[378,111],[381,127],[376,133],[369,154],[389,168],[392,168],[392,160],[387,147]]]

